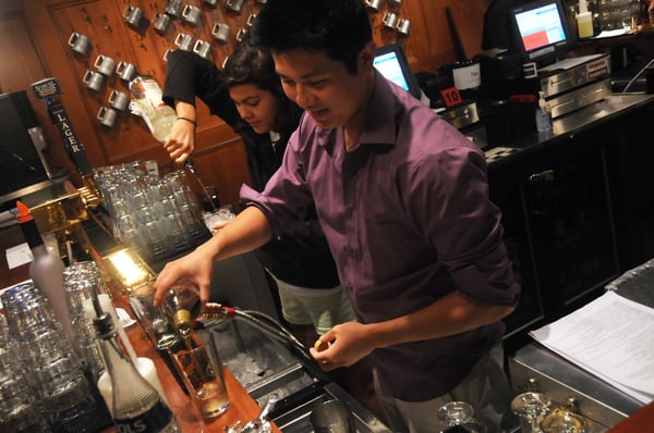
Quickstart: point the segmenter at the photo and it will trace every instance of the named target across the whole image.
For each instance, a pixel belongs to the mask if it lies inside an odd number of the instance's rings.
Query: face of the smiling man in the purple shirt
[[[318,126],[347,126],[365,107],[367,71],[361,62],[352,75],[342,62],[323,51],[294,49],[274,53],[272,59],[286,95]]]

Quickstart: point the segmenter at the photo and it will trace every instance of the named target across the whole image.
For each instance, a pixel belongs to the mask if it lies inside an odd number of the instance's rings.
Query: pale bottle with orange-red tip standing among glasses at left
[[[34,260],[29,264],[29,277],[34,281],[34,285],[48,297],[66,338],[73,347],[76,347],[77,342],[63,288],[63,261],[57,252],[48,252],[29,208],[20,200],[16,201],[16,208],[19,209],[17,219],[21,230],[34,256]]]

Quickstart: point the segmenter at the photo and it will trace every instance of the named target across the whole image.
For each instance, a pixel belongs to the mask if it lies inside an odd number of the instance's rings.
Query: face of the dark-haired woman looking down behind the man
[[[229,88],[229,96],[237,104],[241,117],[257,134],[272,129],[279,111],[279,99],[270,91],[254,84],[241,84]]]

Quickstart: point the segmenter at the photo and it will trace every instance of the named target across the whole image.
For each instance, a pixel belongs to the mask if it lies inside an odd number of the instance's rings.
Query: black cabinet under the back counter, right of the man
[[[522,283],[506,319],[508,350],[654,256],[652,114],[650,103],[489,164],[491,197]]]

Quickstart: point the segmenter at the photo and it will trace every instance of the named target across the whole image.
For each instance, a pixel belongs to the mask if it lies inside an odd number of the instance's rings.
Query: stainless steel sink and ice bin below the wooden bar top
[[[356,432],[390,433],[363,405],[331,382],[298,345],[271,338],[238,316],[207,329],[201,335],[203,339],[213,339],[220,361],[259,406],[265,405],[271,393],[277,394],[279,401],[269,418],[284,433],[312,433],[313,408],[332,399],[350,406]]]

